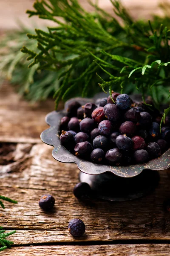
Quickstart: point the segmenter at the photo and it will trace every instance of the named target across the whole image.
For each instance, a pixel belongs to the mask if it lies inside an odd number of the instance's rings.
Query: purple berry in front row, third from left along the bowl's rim
[[[105,158],[108,163],[118,166],[121,163],[122,154],[119,148],[112,148],[106,152]]]

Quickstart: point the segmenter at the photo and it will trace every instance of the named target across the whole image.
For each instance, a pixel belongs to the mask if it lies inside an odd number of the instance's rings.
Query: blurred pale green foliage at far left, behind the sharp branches
[[[59,87],[59,73],[46,70],[37,71],[39,64],[28,69],[28,61],[25,55],[20,52],[25,44],[36,51],[37,42],[28,40],[26,34],[33,33],[33,29],[28,29],[20,24],[17,31],[9,31],[0,40],[0,76],[8,79],[17,91],[33,102],[45,100],[53,96]]]

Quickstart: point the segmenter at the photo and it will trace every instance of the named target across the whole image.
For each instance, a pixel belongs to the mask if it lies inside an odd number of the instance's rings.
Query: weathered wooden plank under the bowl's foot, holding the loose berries
[[[16,151],[20,147],[18,144]],[[76,165],[54,160],[52,147],[43,143],[29,150],[13,163],[0,166],[0,194],[19,202],[6,203],[6,209],[0,210],[1,226],[18,230],[13,236],[15,244],[75,241],[67,231],[72,218],[81,218],[86,225],[86,233],[78,241],[170,240],[170,215],[163,209],[164,199],[170,197],[167,173],[161,174],[156,191],[144,198],[119,203],[81,202],[72,193],[78,182]],[[56,199],[53,212],[45,213],[38,206],[39,197],[45,193]]]

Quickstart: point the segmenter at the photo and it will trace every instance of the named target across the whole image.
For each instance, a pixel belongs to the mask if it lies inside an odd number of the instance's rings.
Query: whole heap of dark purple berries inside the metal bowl
[[[112,166],[146,163],[170,144],[170,117],[161,128],[161,113],[135,103],[127,94],[112,93],[81,106],[71,102],[60,123],[60,142],[77,157]],[[153,105],[150,99],[147,103]]]

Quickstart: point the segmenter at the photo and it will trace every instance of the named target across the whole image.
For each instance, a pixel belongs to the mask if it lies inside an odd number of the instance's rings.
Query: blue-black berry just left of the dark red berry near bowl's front
[[[133,140],[126,135],[119,135],[116,138],[116,146],[125,151],[131,150],[133,148]]]

